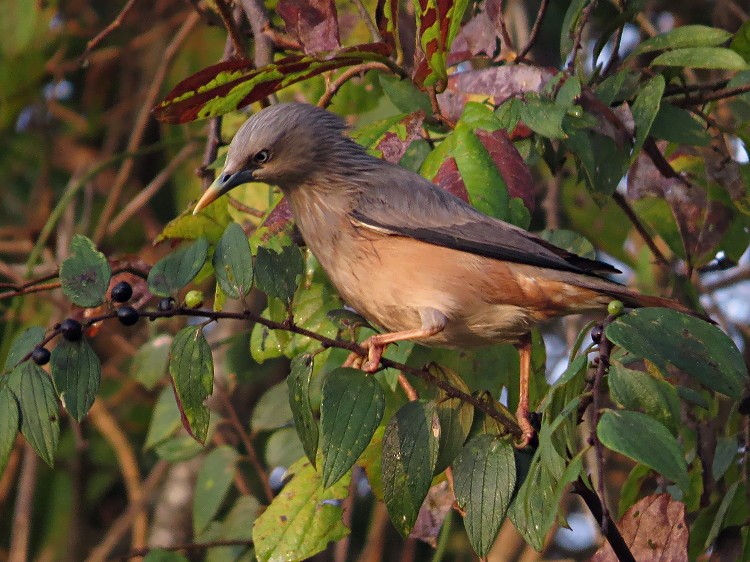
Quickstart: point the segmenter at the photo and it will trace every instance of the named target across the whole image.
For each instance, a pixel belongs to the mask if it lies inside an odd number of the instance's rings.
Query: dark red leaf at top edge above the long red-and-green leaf
[[[333,51],[341,46],[333,0],[280,0],[276,11],[287,33],[302,44],[306,53]]]

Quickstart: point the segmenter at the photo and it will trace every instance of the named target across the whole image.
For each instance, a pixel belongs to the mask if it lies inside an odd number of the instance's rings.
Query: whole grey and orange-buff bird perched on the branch
[[[530,331],[551,318],[628,307],[684,310],[609,280],[613,266],[558,248],[487,216],[416,172],[369,154],[339,116],[304,103],[253,114],[222,172],[194,208],[238,185],[278,186],[307,248],[346,304],[383,329],[345,366],[379,368],[389,344],[476,348],[511,343],[520,355],[519,448],[529,419]]]

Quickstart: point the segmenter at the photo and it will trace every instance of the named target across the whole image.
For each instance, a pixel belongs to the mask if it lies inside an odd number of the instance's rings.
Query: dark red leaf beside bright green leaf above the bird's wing
[[[520,197],[526,208],[534,212],[534,178],[508,134],[502,129],[491,133],[478,129],[476,135],[503,176],[508,195]]]

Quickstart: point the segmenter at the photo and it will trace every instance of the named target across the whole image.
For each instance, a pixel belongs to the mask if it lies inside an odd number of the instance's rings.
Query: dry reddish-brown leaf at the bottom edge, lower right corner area
[[[669,494],[647,496],[628,509],[618,525],[636,560],[687,561],[688,526],[685,504]],[[617,562],[612,547],[604,543],[589,562]]]

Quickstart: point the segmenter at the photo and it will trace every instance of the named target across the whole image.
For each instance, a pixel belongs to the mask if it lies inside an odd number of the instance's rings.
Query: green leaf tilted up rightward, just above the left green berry
[[[163,257],[148,272],[148,289],[158,297],[176,297],[206,262],[208,241],[201,237]]]

